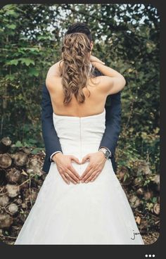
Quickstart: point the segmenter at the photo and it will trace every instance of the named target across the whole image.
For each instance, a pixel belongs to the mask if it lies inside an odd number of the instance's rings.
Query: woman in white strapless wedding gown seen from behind
[[[15,244],[144,244],[111,160],[101,172],[83,174],[106,128],[106,98],[125,87],[125,78],[91,56],[81,32],[65,35],[62,58],[53,67],[56,75],[49,70],[46,87],[53,125],[75,175],[51,163]],[[103,75],[93,77],[93,67]]]

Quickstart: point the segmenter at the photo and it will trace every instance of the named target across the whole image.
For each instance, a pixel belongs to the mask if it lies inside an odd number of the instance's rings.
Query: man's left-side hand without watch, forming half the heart
[[[59,152],[56,153],[52,159],[56,162],[58,172],[67,184],[70,184],[70,182],[73,184],[79,184],[80,177],[71,163],[71,161],[74,160],[76,163],[81,164],[78,158],[75,156],[65,156],[63,153]]]

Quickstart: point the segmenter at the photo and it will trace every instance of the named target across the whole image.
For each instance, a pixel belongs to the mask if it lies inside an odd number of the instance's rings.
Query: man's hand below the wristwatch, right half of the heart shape
[[[89,153],[87,156],[84,156],[84,158],[82,158],[82,164],[85,163],[86,160],[89,160],[90,163],[83,172],[81,179],[82,182],[93,182],[94,179],[96,179],[96,177],[98,177],[101,173],[107,158],[105,158],[101,151],[98,151],[96,153]]]

